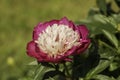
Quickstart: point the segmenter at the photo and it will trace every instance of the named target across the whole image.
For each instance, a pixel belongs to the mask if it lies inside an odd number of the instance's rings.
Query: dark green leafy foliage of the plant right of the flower
[[[99,9],[90,10],[88,17],[78,22],[87,25],[90,30],[91,45],[88,51],[72,57],[73,62],[67,62],[67,65],[57,64],[57,69],[52,67],[55,72],[60,71],[64,75],[50,75],[52,72],[48,72],[48,80],[120,79],[120,13],[114,12],[109,4],[106,0],[97,0]]]

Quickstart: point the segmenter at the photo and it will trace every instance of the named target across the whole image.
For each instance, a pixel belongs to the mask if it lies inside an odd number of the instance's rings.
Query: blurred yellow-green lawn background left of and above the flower
[[[0,0],[0,80],[28,80],[34,59],[26,44],[35,25],[64,16],[79,21],[92,7],[95,0]]]

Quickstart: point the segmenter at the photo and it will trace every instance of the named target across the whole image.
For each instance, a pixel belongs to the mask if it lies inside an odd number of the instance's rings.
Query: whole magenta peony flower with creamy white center
[[[39,23],[33,39],[27,44],[27,54],[39,62],[71,61],[69,56],[81,54],[90,44],[85,25],[75,25],[66,17]]]

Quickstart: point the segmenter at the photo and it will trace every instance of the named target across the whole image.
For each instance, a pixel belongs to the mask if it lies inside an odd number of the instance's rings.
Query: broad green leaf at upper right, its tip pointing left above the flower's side
[[[87,19],[81,20],[81,24],[85,24],[90,30],[91,36],[102,34],[102,30],[107,30],[111,33],[115,33],[117,24],[112,17],[106,17],[104,15],[96,14],[88,16]]]

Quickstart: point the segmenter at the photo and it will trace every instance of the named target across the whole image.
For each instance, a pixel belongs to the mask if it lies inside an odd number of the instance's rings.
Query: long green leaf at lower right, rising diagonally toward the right
[[[97,75],[98,73],[102,72],[103,70],[105,70],[110,63],[113,61],[114,57],[109,57],[109,59],[105,59],[105,60],[101,60],[99,62],[99,64],[93,68],[92,70],[90,70],[87,75],[86,75],[86,79],[91,79],[94,75]]]

